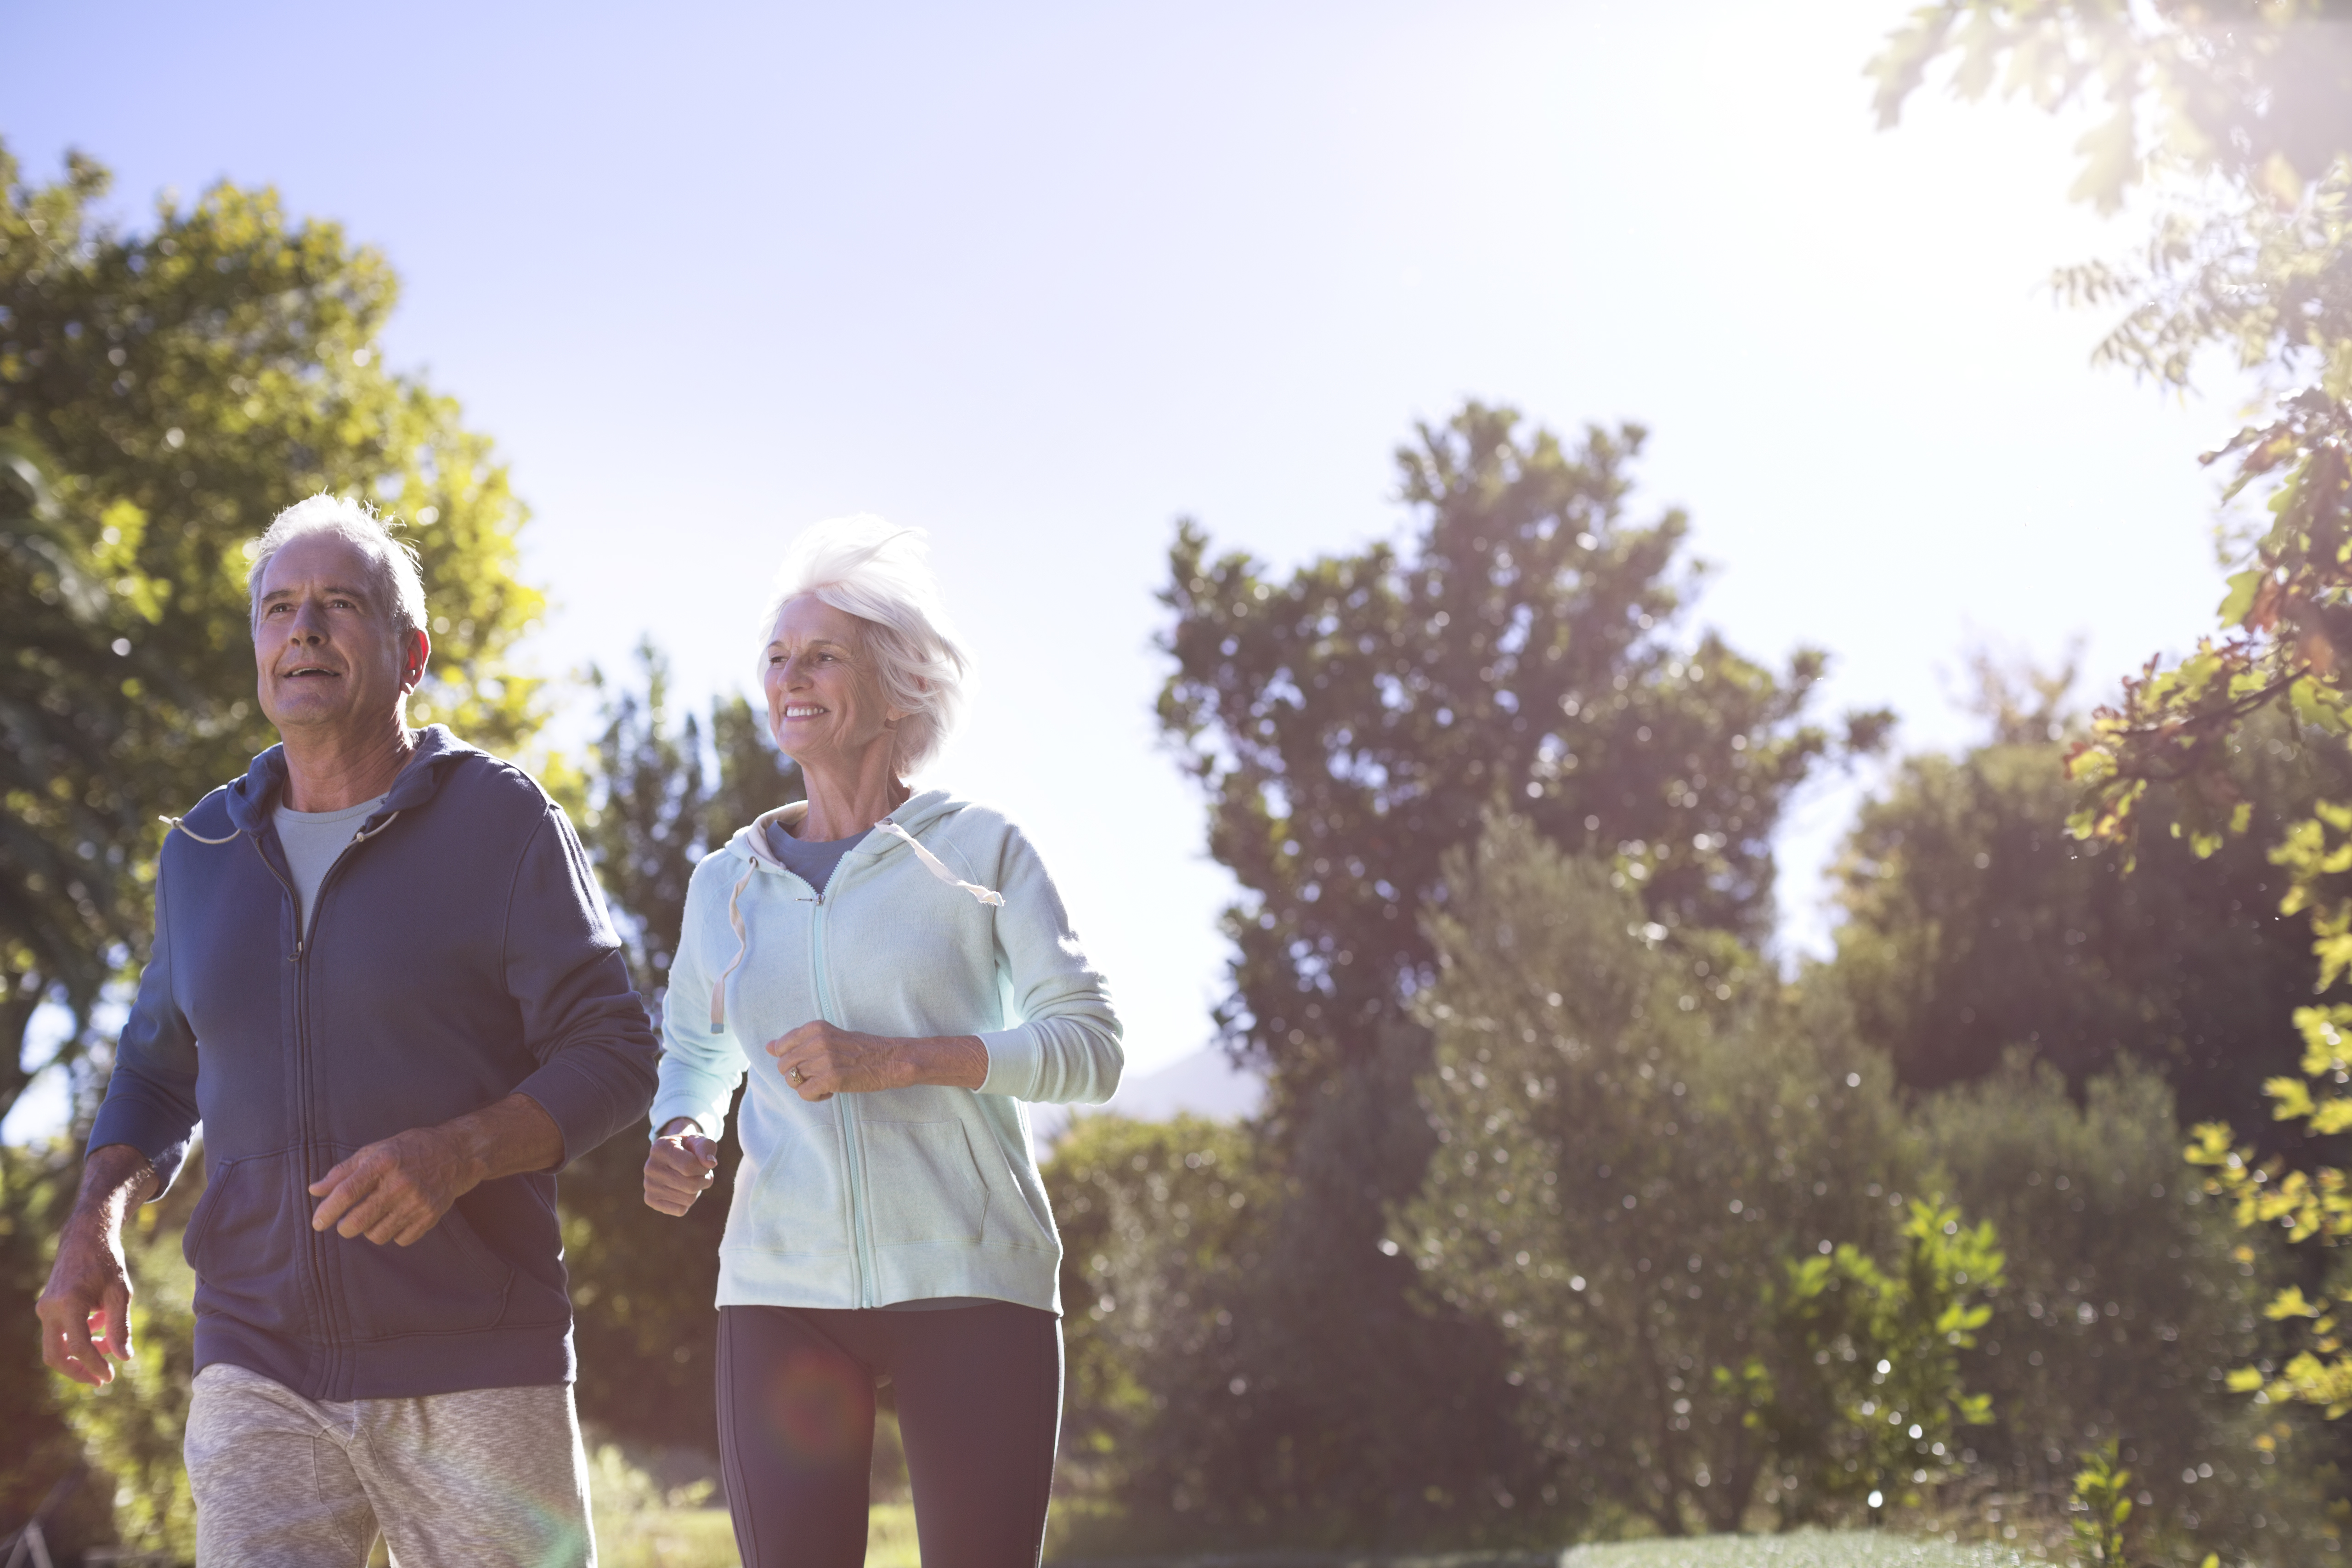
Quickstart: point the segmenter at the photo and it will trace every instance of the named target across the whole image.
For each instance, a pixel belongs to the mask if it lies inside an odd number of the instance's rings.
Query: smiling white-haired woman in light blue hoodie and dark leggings
[[[720,1455],[750,1566],[866,1559],[877,1380],[927,1568],[1035,1563],[1061,1237],[1025,1100],[1101,1103],[1120,1020],[1021,830],[915,792],[967,670],[913,531],[802,534],[762,625],[809,797],[696,870],[644,1201],[682,1215],[750,1067],[720,1241]]]

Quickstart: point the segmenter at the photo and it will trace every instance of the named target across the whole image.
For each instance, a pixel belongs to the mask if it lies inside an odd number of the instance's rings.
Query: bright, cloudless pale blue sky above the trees
[[[379,244],[395,364],[536,510],[548,672],[652,632],[734,686],[800,524],[929,529],[985,682],[934,780],[1042,842],[1148,1070],[1230,896],[1150,724],[1178,515],[1298,562],[1397,534],[1463,397],[1639,418],[1700,618],[1912,748],[1971,736],[1971,642],[2082,635],[2105,691],[2209,625],[2237,409],[2089,369],[2044,280],[2131,228],[2065,205],[2074,127],[1872,129],[1903,9],[7,0],[0,136],[134,221],[233,179]],[[1856,788],[1783,839],[1792,950]]]

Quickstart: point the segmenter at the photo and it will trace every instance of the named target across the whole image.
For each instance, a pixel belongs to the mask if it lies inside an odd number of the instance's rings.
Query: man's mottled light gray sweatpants
[[[200,1568],[595,1568],[572,1389],[315,1401],[207,1366],[188,1406]]]

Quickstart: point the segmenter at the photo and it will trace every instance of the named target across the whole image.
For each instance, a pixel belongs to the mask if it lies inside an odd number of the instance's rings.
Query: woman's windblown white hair
[[[776,618],[802,595],[856,616],[866,654],[898,722],[894,771],[922,771],[964,715],[971,656],[955,639],[938,599],[922,529],[896,529],[870,512],[809,524],[783,552],[776,592],[760,621],[760,661],[776,639]]]

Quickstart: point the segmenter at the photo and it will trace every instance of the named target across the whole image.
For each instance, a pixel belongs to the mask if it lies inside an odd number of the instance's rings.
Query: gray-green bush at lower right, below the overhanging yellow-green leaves
[[[2166,1084],[2126,1063],[2077,1105],[2053,1070],[2011,1060],[1929,1098],[1919,1128],[1940,1180],[2009,1251],[1966,1375],[1994,1415],[1969,1441],[2011,1507],[2063,1507],[2079,1450],[2119,1439],[2140,1481],[2136,1533],[2178,1537],[2192,1561],[2331,1549],[2314,1418],[2225,1387],[2263,1354],[2277,1255],[2183,1164]]]

